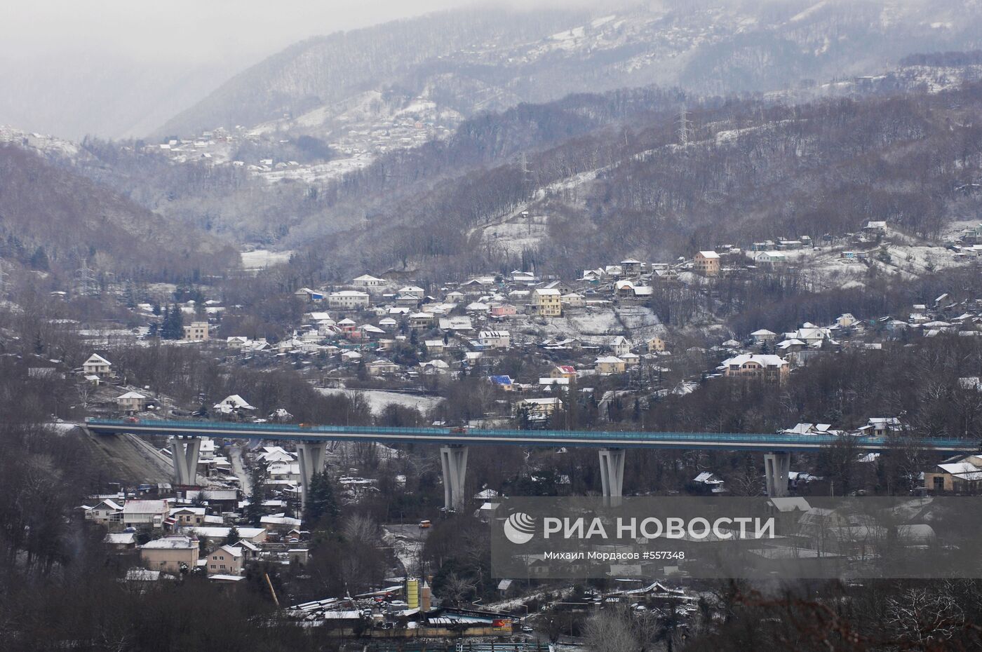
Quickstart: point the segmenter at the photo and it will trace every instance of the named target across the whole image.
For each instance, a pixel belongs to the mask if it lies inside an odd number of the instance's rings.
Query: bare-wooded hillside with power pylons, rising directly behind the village
[[[529,153],[525,171],[514,161],[441,182],[379,208],[370,238],[352,231],[317,246],[356,251],[369,268],[414,260],[471,271],[531,255],[540,271],[569,274],[618,256],[844,234],[869,220],[933,239],[978,215],[980,104],[978,83],[797,106],[707,104],[686,113],[684,145],[677,114],[649,115]],[[495,229],[523,209],[544,232],[498,242]]]

